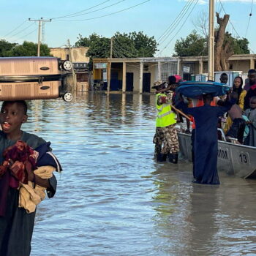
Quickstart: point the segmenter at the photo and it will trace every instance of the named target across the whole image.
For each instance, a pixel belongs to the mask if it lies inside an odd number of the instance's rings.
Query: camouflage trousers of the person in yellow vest
[[[153,143],[155,144],[154,156],[157,154],[178,153],[178,135],[175,124],[168,127],[157,127],[154,135]]]

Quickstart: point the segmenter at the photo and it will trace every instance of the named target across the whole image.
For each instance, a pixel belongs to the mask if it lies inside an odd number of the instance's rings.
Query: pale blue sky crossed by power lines
[[[216,0],[215,10],[221,16],[230,14],[227,31],[234,37],[246,36],[251,53],[256,53],[256,0]],[[208,0],[1,1],[0,37],[9,42],[37,42],[38,23],[28,19],[53,18],[45,23],[43,39],[49,47],[64,46],[67,39],[73,45],[78,34],[111,37],[116,31],[143,31],[159,42],[157,56],[171,56],[176,39],[196,29],[195,20],[202,13],[208,15]],[[67,17],[60,18],[63,16]],[[172,28],[170,32],[168,27]]]

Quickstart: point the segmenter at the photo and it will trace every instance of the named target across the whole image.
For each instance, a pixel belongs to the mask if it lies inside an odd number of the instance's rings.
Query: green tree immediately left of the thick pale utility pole
[[[176,41],[174,50],[174,56],[204,56],[208,52],[207,38],[193,30],[186,38]]]

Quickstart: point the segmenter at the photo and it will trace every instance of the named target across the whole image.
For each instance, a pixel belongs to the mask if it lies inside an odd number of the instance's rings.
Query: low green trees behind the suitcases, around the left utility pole
[[[37,56],[37,44],[24,41],[22,45],[15,45],[12,49],[4,52],[4,56]],[[40,45],[40,56],[50,56],[48,45]]]

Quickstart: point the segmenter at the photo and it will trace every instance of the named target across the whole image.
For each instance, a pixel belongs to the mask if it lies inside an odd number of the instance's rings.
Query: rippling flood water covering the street
[[[256,255],[256,181],[154,162],[154,95],[30,103],[23,129],[51,141],[63,173],[37,208],[32,256]]]

